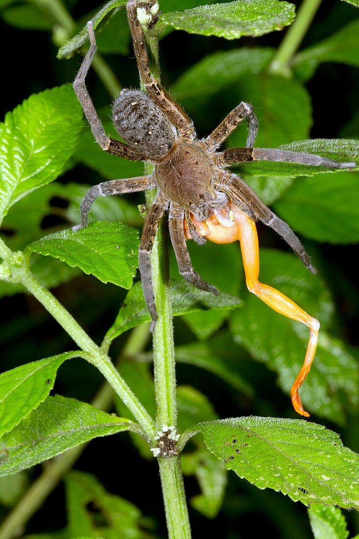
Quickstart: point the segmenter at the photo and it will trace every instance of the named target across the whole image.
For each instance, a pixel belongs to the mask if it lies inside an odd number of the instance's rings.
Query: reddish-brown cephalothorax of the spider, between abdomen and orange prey
[[[213,170],[202,149],[179,143],[169,158],[156,165],[156,181],[161,191],[183,208],[208,212],[213,201]]]

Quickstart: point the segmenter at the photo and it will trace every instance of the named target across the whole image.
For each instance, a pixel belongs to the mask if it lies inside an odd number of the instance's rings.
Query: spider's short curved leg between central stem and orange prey
[[[195,285],[200,290],[212,292],[212,294],[218,296],[219,292],[217,288],[204,281],[198,275],[198,273],[195,272],[192,266],[192,262],[184,238],[183,219],[184,210],[180,206],[171,203],[169,215],[169,231],[171,243],[176,255],[179,273],[181,273],[182,277],[187,282],[190,282],[191,285]]]

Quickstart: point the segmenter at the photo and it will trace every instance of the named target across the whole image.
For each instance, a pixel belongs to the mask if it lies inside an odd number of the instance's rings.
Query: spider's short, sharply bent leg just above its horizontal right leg
[[[258,133],[258,120],[256,114],[254,114],[253,106],[244,101],[227,114],[219,126],[206,137],[205,141],[218,148],[245,118],[248,122],[246,147],[252,148]]]

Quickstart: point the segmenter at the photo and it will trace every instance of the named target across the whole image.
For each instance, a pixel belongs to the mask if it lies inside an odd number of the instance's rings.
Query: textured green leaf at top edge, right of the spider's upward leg
[[[293,22],[294,9],[293,4],[277,0],[240,0],[165,13],[161,23],[201,36],[236,39],[282,30]]]

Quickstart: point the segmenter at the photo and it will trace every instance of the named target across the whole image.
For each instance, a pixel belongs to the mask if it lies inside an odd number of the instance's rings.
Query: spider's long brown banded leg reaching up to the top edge
[[[156,5],[154,2],[147,2],[148,17],[151,19],[155,14],[151,11],[151,6]],[[136,56],[137,66],[140,72],[140,78],[148,92],[150,98],[161,108],[167,115],[171,123],[178,128],[179,134],[188,137],[195,136],[195,128],[189,116],[184,112],[183,108],[171,98],[159,82],[151,75],[149,67],[149,59],[144,39],[143,30],[138,19],[140,9],[146,12],[145,3],[137,3],[137,0],[129,0],[127,4],[127,17],[130,26],[133,48]],[[137,7],[139,6],[140,7]]]

